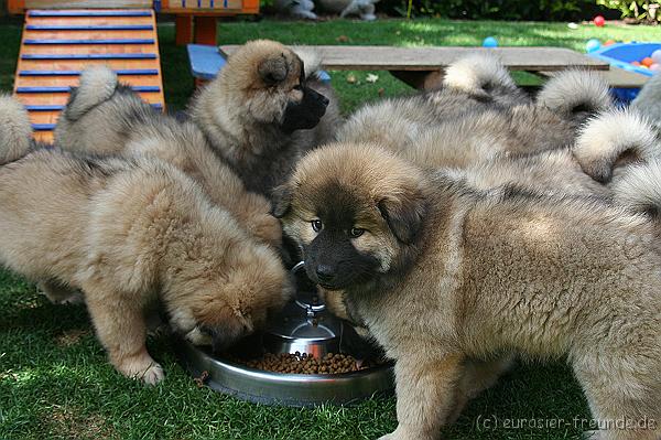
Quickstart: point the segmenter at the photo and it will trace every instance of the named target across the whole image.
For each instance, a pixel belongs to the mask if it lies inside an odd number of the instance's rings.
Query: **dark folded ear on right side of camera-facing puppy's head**
[[[402,194],[397,198],[383,198],[377,206],[398,240],[404,245],[415,242],[427,211],[426,202],[420,192]]]

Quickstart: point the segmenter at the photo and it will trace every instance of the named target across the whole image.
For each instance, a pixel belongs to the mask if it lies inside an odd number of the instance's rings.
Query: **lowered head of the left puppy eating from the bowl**
[[[197,260],[177,270],[166,304],[176,332],[214,351],[263,328],[292,296],[288,272],[271,248],[245,243],[226,251],[231,255],[220,265]]]

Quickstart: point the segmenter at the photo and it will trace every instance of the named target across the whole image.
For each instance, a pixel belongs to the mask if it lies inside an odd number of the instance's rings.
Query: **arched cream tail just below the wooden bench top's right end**
[[[565,71],[549,79],[537,103],[566,118],[585,118],[613,107],[608,84],[589,71]]]

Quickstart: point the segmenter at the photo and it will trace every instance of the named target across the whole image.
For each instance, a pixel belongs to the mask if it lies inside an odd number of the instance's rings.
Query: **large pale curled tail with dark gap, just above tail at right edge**
[[[586,174],[596,181],[608,182],[625,153],[649,162],[658,150],[654,131],[646,118],[631,110],[610,110],[582,128],[574,157]]]

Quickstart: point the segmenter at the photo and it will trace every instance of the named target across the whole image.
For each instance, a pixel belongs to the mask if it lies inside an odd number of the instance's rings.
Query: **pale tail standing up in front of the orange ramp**
[[[64,116],[76,121],[87,111],[110,99],[117,88],[117,75],[107,66],[86,68],[80,85],[72,90]]]

